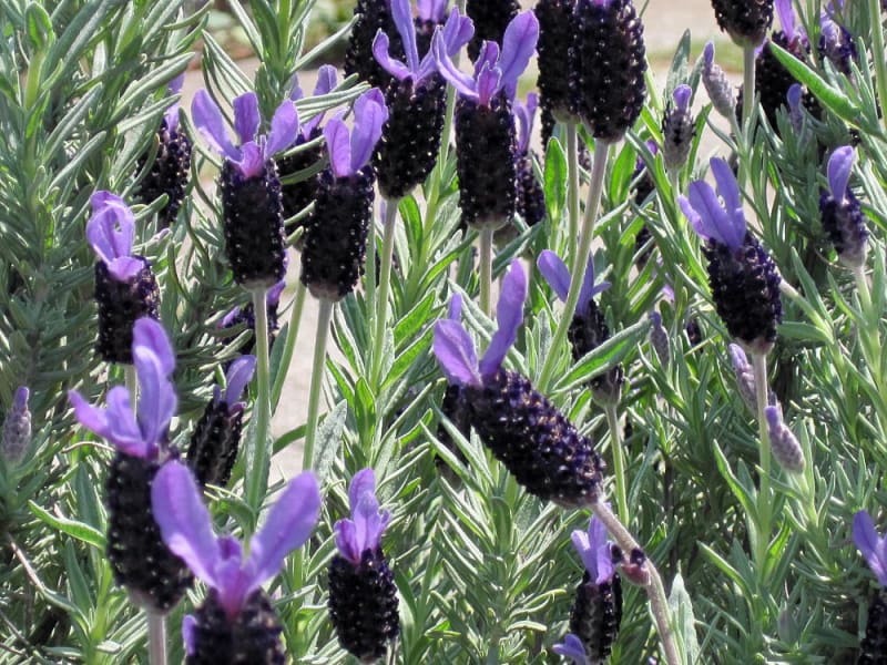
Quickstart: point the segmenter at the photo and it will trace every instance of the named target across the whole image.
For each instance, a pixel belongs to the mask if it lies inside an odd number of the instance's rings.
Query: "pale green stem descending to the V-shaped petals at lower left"
[[[253,407],[255,437],[252,466],[246,474],[246,501],[258,514],[268,488],[268,428],[271,427],[271,368],[268,362],[267,287],[252,291],[256,339],[256,401]]]

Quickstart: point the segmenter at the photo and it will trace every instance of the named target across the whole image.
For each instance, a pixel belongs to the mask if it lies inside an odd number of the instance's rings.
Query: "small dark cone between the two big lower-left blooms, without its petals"
[[[224,401],[206,405],[187,449],[187,466],[201,485],[227,485],[237,459],[243,429],[243,410],[228,411]]]

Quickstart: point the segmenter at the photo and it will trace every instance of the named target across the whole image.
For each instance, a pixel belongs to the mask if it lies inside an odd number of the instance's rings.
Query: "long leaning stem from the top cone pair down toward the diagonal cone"
[[[604,141],[594,143],[594,162],[591,166],[591,185],[589,186],[588,198],[585,200],[585,216],[582,222],[582,232],[579,236],[579,249],[572,269],[570,279],[570,293],[567,296],[567,304],[561,314],[561,320],[558,323],[558,329],[554,332],[554,339],[549,347],[546,362],[542,365],[542,371],[539,377],[539,390],[544,393],[551,380],[551,374],[554,371],[554,364],[560,358],[560,348],[567,340],[567,331],[570,329],[570,324],[573,321],[575,307],[579,303],[579,290],[582,286],[582,278],[585,273],[585,264],[588,260],[589,252],[591,250],[591,241],[594,237],[594,221],[598,217],[598,206],[601,203],[601,191],[603,190],[603,174],[606,171],[606,151],[610,144]]]

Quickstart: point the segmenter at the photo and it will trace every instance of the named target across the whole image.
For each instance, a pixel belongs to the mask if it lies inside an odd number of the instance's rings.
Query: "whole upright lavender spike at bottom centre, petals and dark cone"
[[[397,587],[381,551],[391,515],[379,510],[373,469],[355,474],[348,498],[351,519],[333,528],[338,554],[329,564],[329,616],[339,644],[359,661],[374,663],[400,632]]]

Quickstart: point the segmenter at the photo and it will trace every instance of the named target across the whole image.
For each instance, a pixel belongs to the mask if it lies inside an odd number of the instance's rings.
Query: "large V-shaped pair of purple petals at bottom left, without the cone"
[[[173,461],[161,468],[151,489],[151,503],[163,542],[216,592],[232,621],[244,601],[277,574],[286,555],[308,540],[320,514],[317,479],[306,471],[281,494],[262,529],[249,540],[244,559],[235,538],[213,533],[201,490],[183,464]]]

